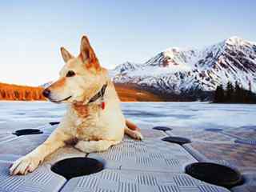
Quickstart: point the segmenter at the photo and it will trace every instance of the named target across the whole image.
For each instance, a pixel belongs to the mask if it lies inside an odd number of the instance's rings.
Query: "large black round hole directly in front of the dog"
[[[56,162],[51,167],[51,170],[66,179],[70,179],[82,175],[95,174],[103,170],[103,168],[102,162],[94,158],[66,158]]]

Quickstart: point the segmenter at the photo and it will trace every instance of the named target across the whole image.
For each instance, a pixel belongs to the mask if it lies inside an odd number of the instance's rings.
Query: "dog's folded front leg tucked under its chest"
[[[107,150],[110,146],[114,146],[121,141],[108,141],[108,140],[99,140],[99,141],[79,141],[74,147],[78,150],[89,154],[92,152]]]

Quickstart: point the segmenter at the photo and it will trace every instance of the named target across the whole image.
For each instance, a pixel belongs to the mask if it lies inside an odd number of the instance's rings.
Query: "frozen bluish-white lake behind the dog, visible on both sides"
[[[0,132],[59,121],[66,106],[51,102],[0,102]],[[232,128],[256,126],[256,105],[206,102],[123,102],[126,118],[152,126]]]

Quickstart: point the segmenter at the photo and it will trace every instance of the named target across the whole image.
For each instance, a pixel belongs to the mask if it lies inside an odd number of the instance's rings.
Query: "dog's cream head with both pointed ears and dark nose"
[[[88,38],[82,37],[78,57],[64,47],[61,54],[66,64],[59,73],[60,78],[42,94],[51,102],[89,102],[106,83],[106,70],[100,66]]]

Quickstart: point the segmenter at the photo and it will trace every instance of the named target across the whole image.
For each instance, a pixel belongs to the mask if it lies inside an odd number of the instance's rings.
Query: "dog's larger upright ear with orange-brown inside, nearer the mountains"
[[[87,68],[92,66],[97,70],[100,68],[98,58],[96,57],[93,48],[90,46],[89,39],[85,35],[83,35],[81,39],[79,56],[82,59],[82,62],[86,63]]]

